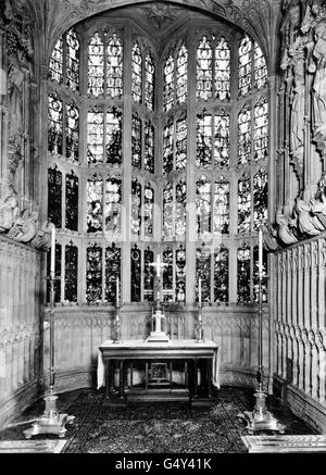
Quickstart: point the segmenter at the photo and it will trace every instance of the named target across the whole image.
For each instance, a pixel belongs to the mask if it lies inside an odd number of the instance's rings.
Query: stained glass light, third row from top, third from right
[[[229,183],[221,176],[214,185],[214,233],[229,232]]]

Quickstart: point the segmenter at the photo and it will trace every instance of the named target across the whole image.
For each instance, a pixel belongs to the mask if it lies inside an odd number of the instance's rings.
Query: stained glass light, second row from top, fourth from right
[[[198,166],[208,166],[212,163],[212,114],[205,110],[197,115],[197,152]]]

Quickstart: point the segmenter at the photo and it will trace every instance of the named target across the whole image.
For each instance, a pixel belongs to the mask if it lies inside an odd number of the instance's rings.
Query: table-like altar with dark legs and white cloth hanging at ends
[[[108,340],[99,347],[98,388],[105,387],[109,405],[145,400],[210,405],[213,387],[220,388],[218,366],[213,341]],[[135,372],[142,374],[141,382],[135,382]]]

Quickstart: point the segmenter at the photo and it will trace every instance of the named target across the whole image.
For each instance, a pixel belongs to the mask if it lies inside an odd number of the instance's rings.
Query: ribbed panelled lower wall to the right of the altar
[[[326,428],[326,235],[278,251],[274,285],[276,383],[291,409],[321,430]]]

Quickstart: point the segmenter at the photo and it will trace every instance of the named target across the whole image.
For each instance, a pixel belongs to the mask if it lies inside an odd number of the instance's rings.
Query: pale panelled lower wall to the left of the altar
[[[39,380],[40,257],[0,236],[0,426],[34,400]]]

